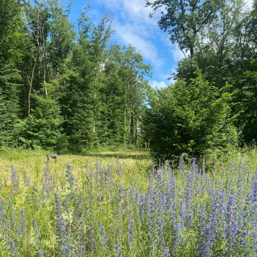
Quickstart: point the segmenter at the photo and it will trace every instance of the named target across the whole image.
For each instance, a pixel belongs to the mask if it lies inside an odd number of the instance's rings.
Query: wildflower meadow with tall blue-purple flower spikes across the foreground
[[[196,159],[131,172],[115,162],[11,167],[0,186],[0,256],[257,256],[257,172]],[[54,165],[54,164],[53,164]],[[137,166],[138,167],[138,166]]]

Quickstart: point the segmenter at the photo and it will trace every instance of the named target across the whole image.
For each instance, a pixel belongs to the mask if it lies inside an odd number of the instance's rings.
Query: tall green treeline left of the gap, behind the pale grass
[[[71,3],[0,1],[0,146],[138,143],[151,67],[112,44],[108,13],[94,24],[88,8],[74,26]]]

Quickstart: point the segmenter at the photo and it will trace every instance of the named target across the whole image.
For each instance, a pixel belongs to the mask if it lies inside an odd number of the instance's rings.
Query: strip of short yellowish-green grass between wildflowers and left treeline
[[[21,149],[2,152],[0,154],[0,178],[5,179],[7,182],[10,181],[11,165],[14,166],[19,177],[22,177],[25,170],[32,180],[40,178],[46,167],[47,154],[49,152]],[[123,163],[124,171],[127,174],[144,173],[151,166],[149,153],[144,150],[84,152],[81,154],[66,153],[59,155],[57,163],[54,159],[50,159],[49,166],[51,173],[56,175],[58,179],[65,174],[68,162],[72,166],[74,175],[79,175],[84,169],[94,169],[97,160],[101,163],[101,166],[107,166],[112,165],[112,163],[115,165],[117,158]]]

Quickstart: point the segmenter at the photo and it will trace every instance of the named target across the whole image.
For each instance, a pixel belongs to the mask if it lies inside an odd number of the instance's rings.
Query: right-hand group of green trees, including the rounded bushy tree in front
[[[156,159],[225,154],[257,139],[257,1],[146,1],[185,53],[175,85],[152,90],[143,131]]]

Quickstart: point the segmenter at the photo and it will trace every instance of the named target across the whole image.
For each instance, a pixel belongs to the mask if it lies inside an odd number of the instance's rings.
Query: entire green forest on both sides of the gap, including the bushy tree
[[[72,2],[0,3],[0,147],[93,150],[150,143],[156,159],[223,154],[257,137],[257,2],[153,3],[185,53],[161,89],[132,45],[113,44],[114,19],[98,24]],[[100,14],[99,14],[100,15]]]

